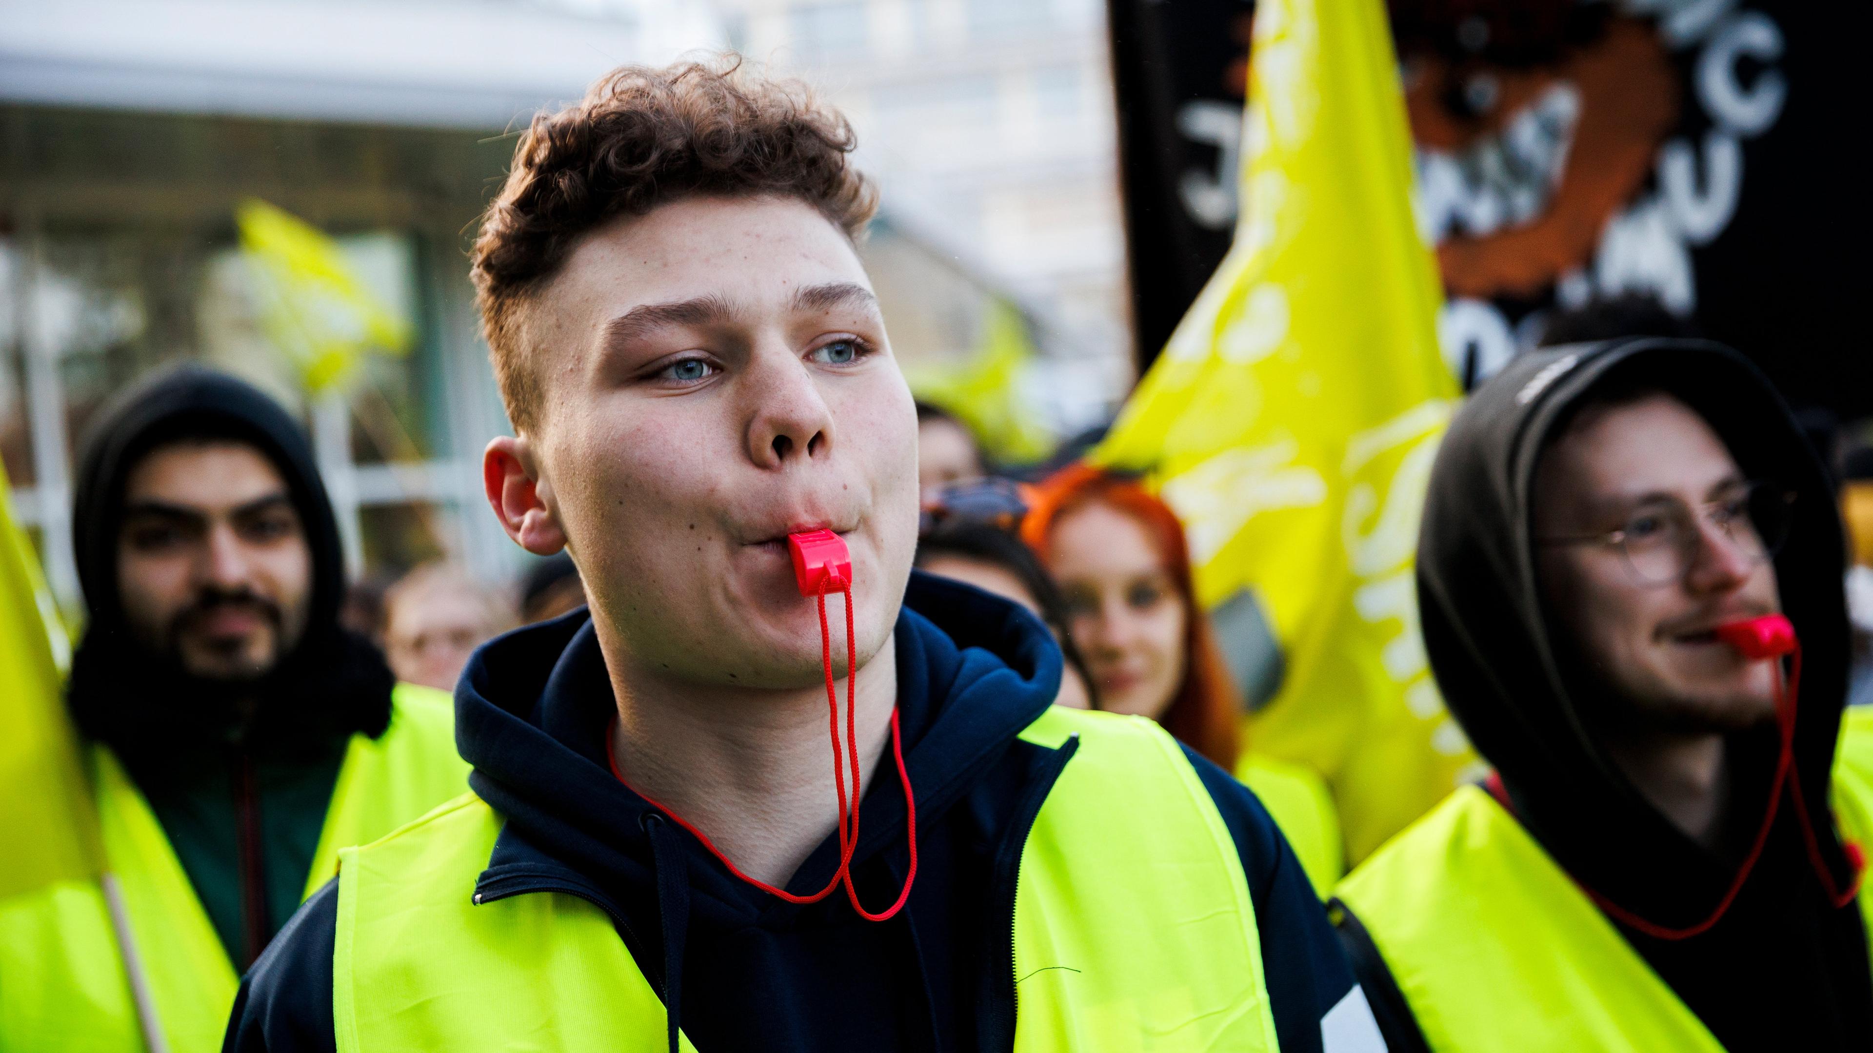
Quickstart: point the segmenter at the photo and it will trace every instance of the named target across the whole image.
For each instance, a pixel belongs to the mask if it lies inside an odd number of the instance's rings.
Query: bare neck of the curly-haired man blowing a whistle
[[[785,888],[839,824],[824,682],[800,690],[678,684],[603,650],[618,699],[612,751],[624,778],[708,834],[742,873]],[[833,686],[843,748],[847,682]],[[860,667],[860,794],[878,776],[895,704],[897,648],[888,637]]]

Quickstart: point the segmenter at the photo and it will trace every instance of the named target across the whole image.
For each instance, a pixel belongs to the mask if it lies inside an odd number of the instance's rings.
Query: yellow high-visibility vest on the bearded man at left
[[[221,1049],[240,976],[150,804],[103,746],[92,785],[105,858],[170,1053]],[[463,793],[448,693],[399,684],[390,727],[352,734],[305,896],[337,875],[339,849],[382,838]],[[0,1053],[135,1053],[142,1032],[103,892],[66,881],[0,901]]]

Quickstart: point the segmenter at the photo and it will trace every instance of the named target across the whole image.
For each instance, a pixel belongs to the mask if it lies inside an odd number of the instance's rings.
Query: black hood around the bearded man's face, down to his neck
[[[253,446],[279,472],[313,558],[305,633],[258,688],[258,706],[236,718],[229,688],[187,676],[139,646],[124,620],[116,575],[124,487],[155,448],[227,438]],[[185,365],[112,399],[81,448],[71,543],[88,615],[71,663],[67,699],[88,736],[120,749],[178,748],[204,738],[255,748],[324,748],[330,738],[390,723],[395,678],[363,637],[339,628],[345,553],[311,444],[273,399],[225,373]]]

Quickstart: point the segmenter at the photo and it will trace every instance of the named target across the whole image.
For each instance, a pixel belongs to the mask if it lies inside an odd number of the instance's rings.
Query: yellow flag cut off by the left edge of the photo
[[[0,468],[0,899],[97,877],[103,851],[60,697],[64,626]]]

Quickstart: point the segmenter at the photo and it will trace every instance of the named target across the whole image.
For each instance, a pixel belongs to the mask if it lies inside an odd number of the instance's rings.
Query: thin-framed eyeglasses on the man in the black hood
[[[1540,545],[1613,545],[1644,586],[1684,581],[1703,549],[1699,519],[1749,566],[1776,558],[1794,521],[1794,491],[1776,483],[1738,483],[1729,495],[1695,510],[1678,498],[1654,498],[1635,508],[1626,525],[1605,534],[1536,538]]]

